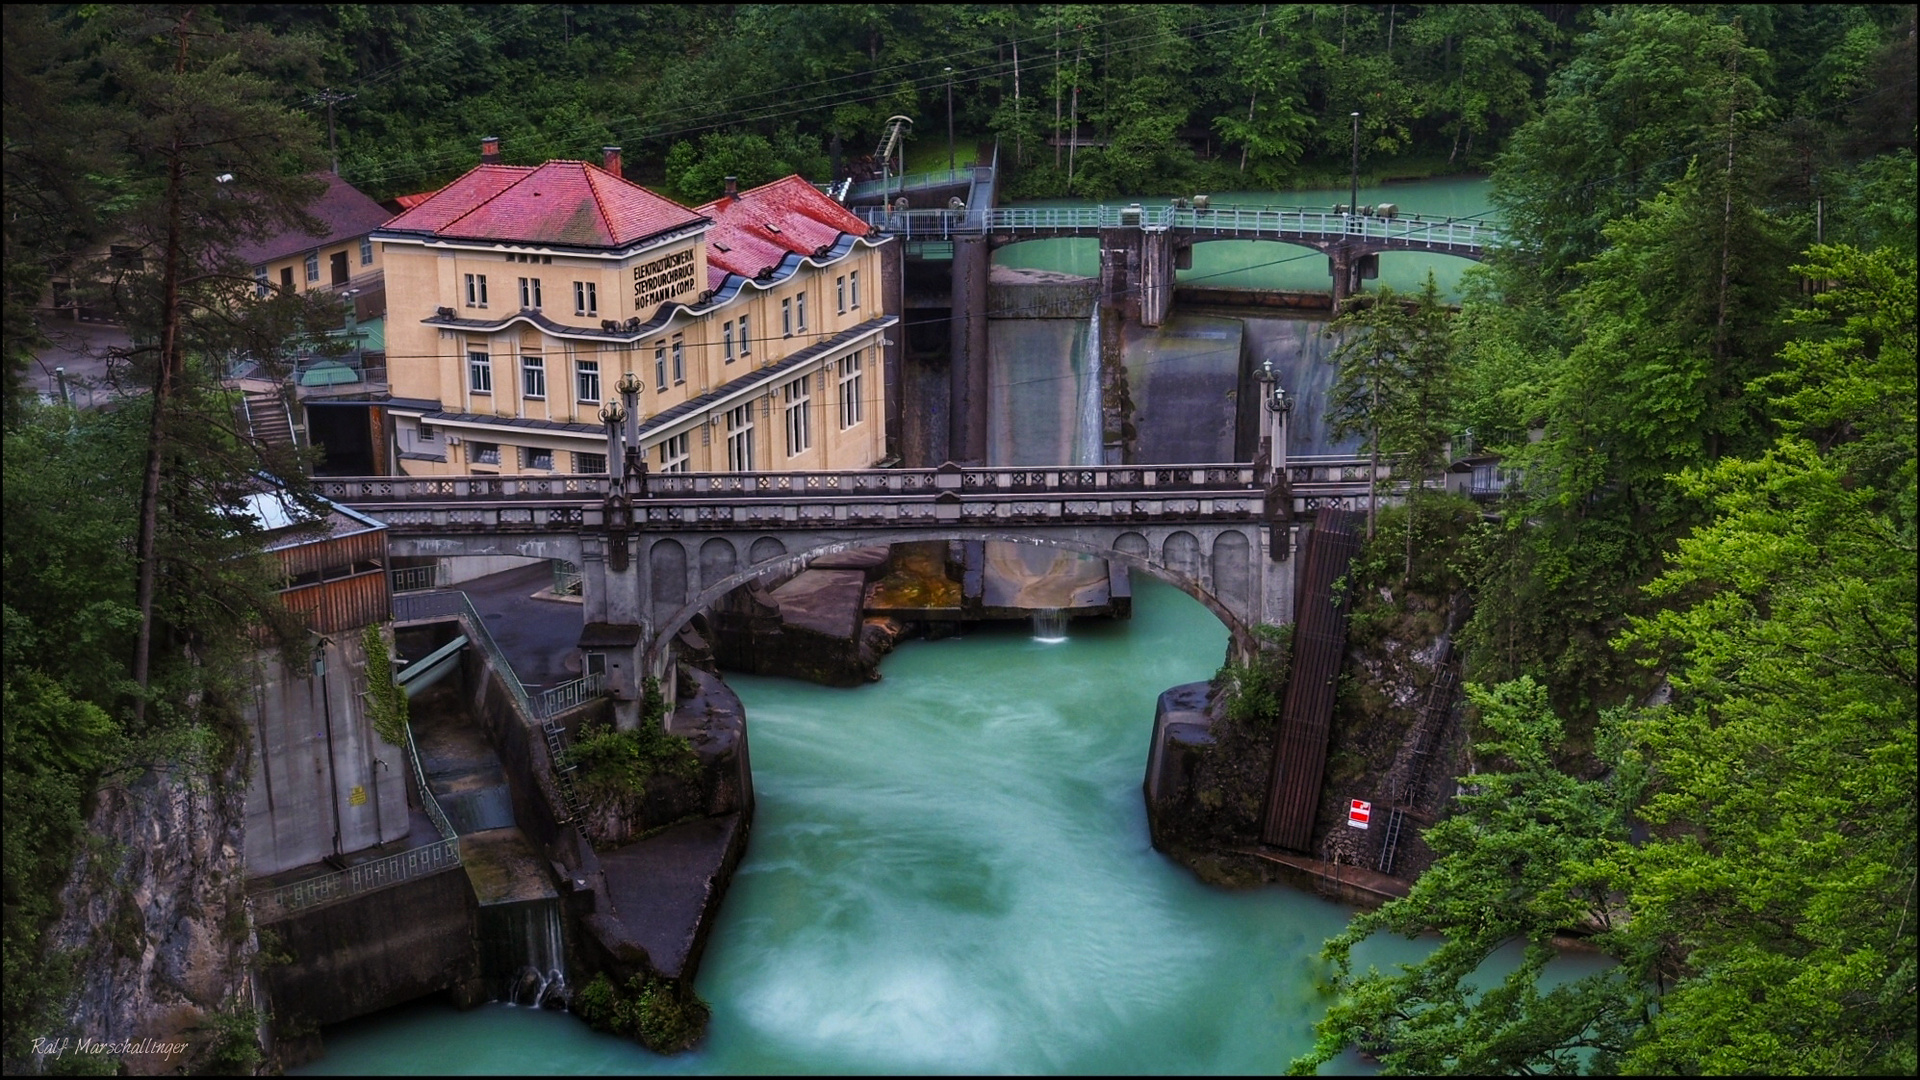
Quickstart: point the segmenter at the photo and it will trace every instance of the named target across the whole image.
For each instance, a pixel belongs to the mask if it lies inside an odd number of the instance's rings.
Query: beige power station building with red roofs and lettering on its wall
[[[655,471],[885,457],[885,236],[801,177],[685,208],[601,165],[482,163],[372,234],[405,475],[603,473],[641,380]]]

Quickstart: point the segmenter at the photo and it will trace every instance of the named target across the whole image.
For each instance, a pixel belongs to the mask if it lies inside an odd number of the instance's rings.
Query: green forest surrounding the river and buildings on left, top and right
[[[67,1009],[44,934],[88,794],[154,765],[244,790],[240,663],[298,640],[236,511],[298,463],[234,430],[217,357],[340,313],[253,300],[232,242],[305,223],[328,161],[390,198],[486,135],[509,163],[618,144],[687,202],[866,175],[889,115],[945,167],[948,100],[1012,198],[1490,177],[1507,244],[1457,307],[1340,315],[1344,430],[1521,480],[1465,528],[1425,498],[1369,521],[1367,565],[1473,598],[1476,773],[1413,894],[1327,945],[1298,1072],[1352,1045],[1920,1067],[1912,6],[15,6],[4,33],[10,1072]],[[142,263],[88,263],[129,236]],[[61,275],[134,340],[115,409],[33,390]],[[1421,932],[1413,969],[1350,959]],[[1565,932],[1617,963],[1544,986]]]

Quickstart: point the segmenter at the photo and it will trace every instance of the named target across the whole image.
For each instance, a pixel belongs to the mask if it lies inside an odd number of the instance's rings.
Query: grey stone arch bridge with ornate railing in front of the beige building
[[[1260,623],[1294,617],[1311,511],[1356,509],[1367,461],[874,469],[851,473],[319,479],[388,527],[394,555],[532,555],[582,567],[584,648],[605,651],[630,721],[674,636],[756,577],[847,548],[1010,540],[1100,555],[1200,600],[1248,655]],[[1386,467],[1380,467],[1382,479]],[[1382,488],[1386,484],[1380,484]],[[662,678],[664,686],[672,680]]]

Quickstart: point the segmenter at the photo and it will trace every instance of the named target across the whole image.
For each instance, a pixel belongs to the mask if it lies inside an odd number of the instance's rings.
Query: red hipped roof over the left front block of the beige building
[[[388,223],[459,240],[624,248],[701,215],[588,161],[476,165]]]

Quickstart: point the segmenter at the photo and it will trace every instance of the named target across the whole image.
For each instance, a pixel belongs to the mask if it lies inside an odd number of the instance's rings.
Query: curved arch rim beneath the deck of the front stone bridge
[[[1187,596],[1198,600],[1208,611],[1213,613],[1215,619],[1221,621],[1221,625],[1227,626],[1231,650],[1236,657],[1244,659],[1246,655],[1252,653],[1252,650],[1258,648],[1254,644],[1254,634],[1252,634],[1252,625],[1258,623],[1258,619],[1248,621],[1235,615],[1235,611],[1215,594],[1215,590],[1210,588],[1212,578],[1217,578],[1217,571],[1215,573],[1208,571],[1217,563],[1217,559],[1223,553],[1229,559],[1242,557],[1240,565],[1246,565],[1250,571],[1250,561],[1246,561],[1244,557],[1252,552],[1254,544],[1244,532],[1236,528],[1227,528],[1219,532],[1219,536],[1215,536],[1212,544],[1212,550],[1208,550],[1208,546],[1202,544],[1194,532],[1173,530],[1165,538],[1162,538],[1158,552],[1154,552],[1154,544],[1150,542],[1150,538],[1139,530],[1123,530],[1110,542],[1092,542],[1092,540],[1075,540],[1068,536],[1048,536],[1044,532],[1023,532],[1018,528],[1008,528],[1008,530],[925,528],[925,530],[887,534],[885,538],[860,538],[860,540],[822,538],[816,544],[793,546],[789,550],[783,550],[781,553],[768,553],[768,557],[753,561],[745,567],[735,567],[733,573],[724,575],[712,580],[710,584],[705,582],[703,578],[699,590],[687,596],[685,603],[678,605],[676,609],[672,609],[672,613],[664,615],[662,619],[659,619],[659,623],[655,623],[655,632],[647,648],[643,669],[647,675],[664,680],[672,657],[672,650],[668,646],[674,640],[674,636],[680,634],[680,630],[684,630],[687,623],[693,621],[695,615],[716,603],[728,592],[751,580],[770,575],[799,571],[808,561],[818,559],[822,555],[851,552],[854,548],[877,548],[883,544],[912,544],[916,540],[943,540],[943,542],[1002,540],[1008,544],[1037,544],[1043,548],[1060,548],[1066,552],[1077,552],[1083,555],[1110,559],[1125,565],[1129,571],[1139,571],[1156,580],[1164,580],[1173,588],[1185,592]],[[655,546],[662,542],[668,540],[666,538],[657,540]],[[1188,569],[1183,571],[1167,563],[1169,548],[1173,559],[1177,559],[1183,567]],[[758,552],[762,548],[756,544],[755,550]]]

